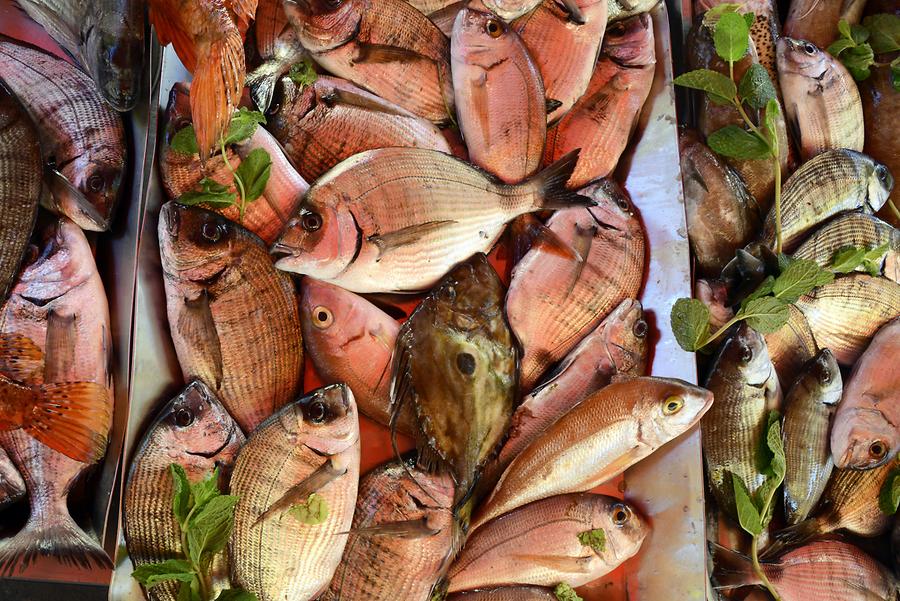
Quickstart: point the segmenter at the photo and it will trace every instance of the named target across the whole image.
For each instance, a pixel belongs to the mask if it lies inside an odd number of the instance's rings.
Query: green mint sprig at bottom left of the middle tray
[[[146,588],[161,582],[179,582],[178,601],[213,601],[210,567],[224,551],[234,527],[237,497],[219,491],[219,470],[191,483],[184,468],[169,466],[174,493],[172,514],[181,533],[182,557],[143,565],[131,575]],[[258,601],[243,589],[223,590],[215,601]]]

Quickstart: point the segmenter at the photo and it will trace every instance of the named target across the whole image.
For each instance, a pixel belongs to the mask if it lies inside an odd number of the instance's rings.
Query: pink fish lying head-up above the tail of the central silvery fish
[[[469,160],[508,184],[534,175],[547,137],[547,100],[516,30],[493,13],[464,8],[453,25],[450,65]]]

